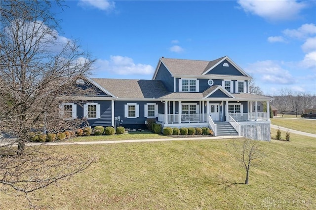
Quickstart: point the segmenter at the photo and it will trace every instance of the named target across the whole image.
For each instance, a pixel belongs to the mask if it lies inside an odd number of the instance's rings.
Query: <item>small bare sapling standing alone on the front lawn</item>
[[[250,167],[256,166],[264,157],[259,140],[242,139],[232,140],[228,145],[230,154],[242,165],[246,172],[244,184],[249,184]]]

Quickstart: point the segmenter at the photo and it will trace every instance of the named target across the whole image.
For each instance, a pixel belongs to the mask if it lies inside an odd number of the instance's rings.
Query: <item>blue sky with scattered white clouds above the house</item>
[[[265,94],[316,93],[316,1],[71,0],[60,39],[97,59],[93,77],[151,79],[160,57],[229,56]]]

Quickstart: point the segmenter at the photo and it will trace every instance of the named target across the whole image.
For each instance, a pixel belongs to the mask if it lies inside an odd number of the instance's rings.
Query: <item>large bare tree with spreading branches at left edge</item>
[[[7,143],[0,148],[0,183],[27,194],[74,175],[93,161],[55,157],[47,149],[26,145],[31,131],[58,132],[84,123],[65,120],[59,104],[94,94],[89,84],[76,83],[89,74],[94,61],[76,41],[59,36],[50,12],[53,3],[62,8],[59,1],[0,3],[0,131],[14,137],[1,140]]]

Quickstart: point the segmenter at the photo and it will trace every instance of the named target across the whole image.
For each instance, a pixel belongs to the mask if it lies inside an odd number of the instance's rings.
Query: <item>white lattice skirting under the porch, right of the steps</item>
[[[270,141],[270,122],[258,124],[241,124],[239,135],[252,140]]]

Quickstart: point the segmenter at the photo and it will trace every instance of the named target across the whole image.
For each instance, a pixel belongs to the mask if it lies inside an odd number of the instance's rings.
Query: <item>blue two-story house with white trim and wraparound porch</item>
[[[228,56],[213,61],[162,57],[152,80],[86,78],[78,83],[93,85],[98,95],[79,97],[86,101],[83,106],[61,106],[69,119],[85,117],[92,127],[146,128],[152,118],[162,127],[209,127],[216,136],[270,140],[273,98],[250,94],[250,79]]]

